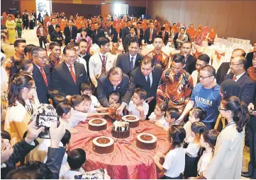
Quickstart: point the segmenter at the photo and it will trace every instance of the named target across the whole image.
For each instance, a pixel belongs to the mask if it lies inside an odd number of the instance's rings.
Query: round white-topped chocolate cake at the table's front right
[[[140,133],[136,139],[136,146],[142,150],[154,150],[157,148],[157,137],[150,133]]]

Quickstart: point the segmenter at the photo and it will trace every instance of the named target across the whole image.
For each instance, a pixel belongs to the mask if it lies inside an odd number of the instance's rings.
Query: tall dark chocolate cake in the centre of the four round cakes
[[[112,136],[114,138],[128,138],[130,136],[130,127],[129,123],[126,121],[114,121]]]

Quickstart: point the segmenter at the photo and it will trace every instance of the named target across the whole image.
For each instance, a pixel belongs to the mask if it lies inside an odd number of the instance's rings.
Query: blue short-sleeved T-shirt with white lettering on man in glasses
[[[194,107],[201,107],[206,112],[206,119],[202,122],[215,122],[219,114],[218,107],[221,104],[220,85],[216,84],[213,88],[206,89],[198,83],[192,91],[190,100],[194,101]]]

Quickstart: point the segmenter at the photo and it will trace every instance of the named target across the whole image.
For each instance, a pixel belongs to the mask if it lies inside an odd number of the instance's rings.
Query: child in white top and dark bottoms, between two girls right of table
[[[186,148],[186,165],[184,170],[184,176],[189,178],[191,176],[196,176],[197,168],[196,165],[199,161],[199,150],[201,133],[206,131],[206,125],[202,122],[194,122],[191,125],[191,136],[194,138],[193,141],[189,143]]]

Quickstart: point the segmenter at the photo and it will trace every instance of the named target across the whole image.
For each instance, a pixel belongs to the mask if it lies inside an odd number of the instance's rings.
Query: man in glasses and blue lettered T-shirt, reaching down
[[[207,129],[212,129],[218,117],[218,107],[221,104],[220,86],[215,82],[216,70],[213,66],[206,65],[201,68],[198,83],[193,91],[184,112],[177,119],[179,124],[193,107],[201,107],[206,112],[206,118],[202,120]]]

